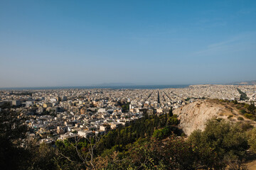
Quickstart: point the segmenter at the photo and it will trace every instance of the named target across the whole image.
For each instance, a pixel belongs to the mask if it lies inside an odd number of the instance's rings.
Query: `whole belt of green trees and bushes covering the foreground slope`
[[[242,169],[246,150],[256,152],[256,130],[250,124],[211,119],[204,131],[196,130],[184,140],[171,110],[145,114],[100,137],[58,140],[55,147],[26,141],[28,129],[17,115],[0,112],[3,169]]]

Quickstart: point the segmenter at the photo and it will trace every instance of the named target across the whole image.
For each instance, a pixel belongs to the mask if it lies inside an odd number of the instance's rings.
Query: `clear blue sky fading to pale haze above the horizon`
[[[256,1],[0,1],[0,87],[256,79]]]

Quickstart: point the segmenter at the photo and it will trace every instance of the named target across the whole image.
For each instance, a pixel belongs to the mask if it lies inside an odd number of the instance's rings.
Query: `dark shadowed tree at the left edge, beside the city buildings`
[[[26,169],[28,152],[23,145],[28,128],[18,113],[10,109],[0,112],[0,166],[2,169]]]

